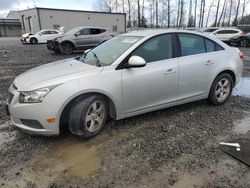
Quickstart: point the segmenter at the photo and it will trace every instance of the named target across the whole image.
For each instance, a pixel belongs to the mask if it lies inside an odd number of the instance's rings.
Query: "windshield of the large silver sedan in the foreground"
[[[85,53],[81,60],[90,65],[108,66],[139,41],[138,36],[117,36]]]

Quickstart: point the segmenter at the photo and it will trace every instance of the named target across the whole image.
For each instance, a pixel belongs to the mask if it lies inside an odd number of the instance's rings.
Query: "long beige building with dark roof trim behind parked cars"
[[[105,27],[114,34],[126,32],[125,13],[36,7],[10,11],[7,17],[20,20],[22,33],[36,33],[42,29],[58,29],[59,27],[65,27],[65,31],[68,31],[78,26]]]

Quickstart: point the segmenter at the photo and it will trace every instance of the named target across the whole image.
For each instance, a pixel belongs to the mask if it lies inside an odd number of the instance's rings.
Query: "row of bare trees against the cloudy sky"
[[[96,0],[94,8],[127,13],[127,27],[223,27],[250,24],[246,19],[248,3],[249,0]]]

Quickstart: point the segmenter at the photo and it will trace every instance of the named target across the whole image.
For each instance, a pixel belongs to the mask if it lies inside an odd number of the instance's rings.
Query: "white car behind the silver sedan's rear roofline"
[[[221,28],[212,32],[211,35],[215,35],[217,39],[223,42],[229,42],[232,37],[243,36],[244,32],[235,28]]]

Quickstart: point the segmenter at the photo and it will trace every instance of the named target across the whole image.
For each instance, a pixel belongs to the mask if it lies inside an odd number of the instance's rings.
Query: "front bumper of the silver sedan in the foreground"
[[[56,105],[44,102],[22,104],[19,103],[19,92],[13,86],[10,87],[9,92],[6,110],[16,127],[33,135],[58,135],[60,133],[60,117],[57,117],[59,108]],[[47,119],[52,117],[55,117],[56,121],[54,123],[47,122]]]

